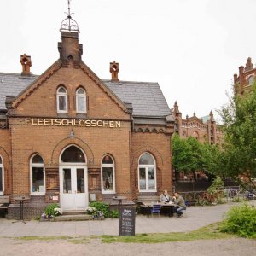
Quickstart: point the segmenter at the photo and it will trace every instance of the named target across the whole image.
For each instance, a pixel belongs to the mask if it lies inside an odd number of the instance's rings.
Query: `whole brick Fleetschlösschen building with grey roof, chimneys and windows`
[[[39,76],[28,55],[20,56],[22,73],[0,73],[0,196],[10,197],[8,217],[17,217],[20,195],[32,217],[50,202],[75,210],[172,190],[174,119],[159,84],[119,80],[115,61],[112,78],[99,79],[82,61],[76,26],[61,27],[58,50]]]

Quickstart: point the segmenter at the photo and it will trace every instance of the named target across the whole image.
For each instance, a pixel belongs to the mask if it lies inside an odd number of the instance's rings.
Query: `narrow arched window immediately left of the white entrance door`
[[[44,160],[39,154],[34,154],[30,162],[31,194],[45,193]]]

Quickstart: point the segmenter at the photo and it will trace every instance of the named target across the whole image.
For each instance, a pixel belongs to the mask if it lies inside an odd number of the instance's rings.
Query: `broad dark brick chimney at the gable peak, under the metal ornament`
[[[62,31],[61,41],[58,43],[61,61],[81,61],[83,44],[79,44],[79,33]]]

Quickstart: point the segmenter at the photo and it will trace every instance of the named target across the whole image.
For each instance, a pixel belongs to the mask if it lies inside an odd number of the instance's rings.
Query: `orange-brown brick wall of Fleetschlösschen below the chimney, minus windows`
[[[61,84],[67,89],[68,113],[60,114],[56,113],[56,91]],[[75,94],[79,86],[86,91],[88,100],[89,108],[84,115],[78,115],[75,108]],[[69,145],[76,145],[84,151],[89,173],[89,193],[95,193],[96,199],[108,197],[101,194],[101,161],[104,154],[111,154],[114,160],[117,195],[125,195],[130,201],[137,198],[137,161],[144,152],[153,154],[156,160],[158,191],[172,189],[171,135],[166,135],[164,125],[160,133],[157,133],[157,129],[154,132],[131,132],[130,113],[93,73],[88,73],[87,67],[61,67],[60,62],[56,62],[15,100],[13,107],[9,109],[9,130],[0,131],[10,161],[8,166],[7,154],[0,151],[7,165],[9,192],[13,195],[9,218],[16,218],[19,212],[14,196],[31,194],[32,155],[40,154],[44,159],[46,174],[58,179],[56,170],[59,170],[61,152]],[[32,125],[32,122],[26,124],[25,119],[28,117],[119,120],[121,126]],[[73,136],[70,136],[71,131]],[[90,188],[93,178],[96,178],[96,188]],[[48,183],[49,177],[46,177]],[[42,205],[29,201],[24,208],[26,217],[41,214],[42,208],[49,201],[49,195],[58,195],[58,192],[46,188],[47,195],[42,199]]]

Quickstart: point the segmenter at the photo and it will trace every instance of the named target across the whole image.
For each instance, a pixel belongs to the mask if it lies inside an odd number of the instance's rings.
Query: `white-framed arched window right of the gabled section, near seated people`
[[[145,152],[139,158],[138,186],[141,192],[156,191],[155,160],[152,154]]]

